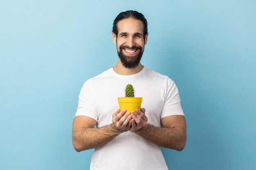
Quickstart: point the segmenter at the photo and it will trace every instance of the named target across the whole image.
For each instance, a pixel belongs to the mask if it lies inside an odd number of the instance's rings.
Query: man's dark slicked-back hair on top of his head
[[[148,22],[144,17],[144,15],[137,11],[129,10],[129,11],[119,13],[113,22],[112,32],[115,33],[115,35],[117,35],[118,34],[117,23],[120,20],[124,20],[127,18],[134,18],[136,20],[141,20],[141,22],[144,24],[143,38],[145,39],[145,35],[148,33]]]

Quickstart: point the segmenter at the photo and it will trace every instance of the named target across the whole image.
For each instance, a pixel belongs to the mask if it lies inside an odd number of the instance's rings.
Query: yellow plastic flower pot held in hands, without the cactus
[[[142,98],[143,97],[117,97],[120,111],[126,109],[126,113],[130,112],[132,114],[133,110],[140,110]]]

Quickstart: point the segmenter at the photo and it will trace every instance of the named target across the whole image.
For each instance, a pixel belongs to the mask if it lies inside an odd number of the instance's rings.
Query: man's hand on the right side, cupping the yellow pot
[[[148,118],[146,117],[145,112],[145,108],[141,108],[140,110],[136,109],[132,112],[132,119],[130,120],[132,127],[130,128],[130,132],[137,132],[139,129],[146,126]]]

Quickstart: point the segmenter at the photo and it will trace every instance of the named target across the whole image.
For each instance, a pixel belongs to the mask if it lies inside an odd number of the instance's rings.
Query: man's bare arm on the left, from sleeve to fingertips
[[[118,109],[112,115],[112,124],[101,128],[94,128],[96,120],[87,116],[76,116],[73,122],[72,142],[75,150],[81,152],[92,148],[97,148],[114,139],[122,132],[126,132],[131,126],[130,113],[126,110]],[[123,117],[121,117],[124,115]]]

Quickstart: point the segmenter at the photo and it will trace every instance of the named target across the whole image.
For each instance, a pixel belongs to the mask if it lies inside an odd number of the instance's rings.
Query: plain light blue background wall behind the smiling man
[[[1,0],[1,170],[89,169],[93,150],[72,146],[78,95],[116,64],[112,22],[130,9],[148,20],[141,63],[175,81],[186,115],[169,169],[256,169],[255,0]]]

